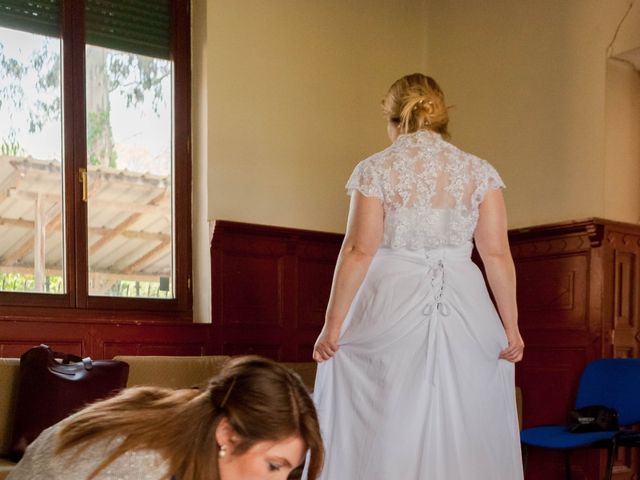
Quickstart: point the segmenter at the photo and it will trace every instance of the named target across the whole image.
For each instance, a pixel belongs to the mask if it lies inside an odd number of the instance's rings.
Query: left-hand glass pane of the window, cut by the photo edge
[[[0,291],[65,292],[60,51],[0,27]]]

